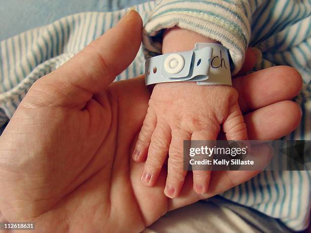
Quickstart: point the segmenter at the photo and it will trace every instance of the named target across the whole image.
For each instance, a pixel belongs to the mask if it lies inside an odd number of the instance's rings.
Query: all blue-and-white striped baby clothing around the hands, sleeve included
[[[70,15],[2,41],[0,126],[37,79],[115,25],[126,10]],[[245,48],[255,46],[263,52],[255,70],[287,64],[301,73],[303,89],[295,98],[303,112],[301,124],[283,139],[311,140],[311,0],[167,0],[147,2],[136,10],[145,24],[144,48],[116,81],[144,72],[144,52],[161,53],[157,40],[166,27],[179,25],[221,41],[230,50],[234,72],[241,67]],[[308,223],[310,183],[310,172],[265,171],[222,195],[301,230]]]

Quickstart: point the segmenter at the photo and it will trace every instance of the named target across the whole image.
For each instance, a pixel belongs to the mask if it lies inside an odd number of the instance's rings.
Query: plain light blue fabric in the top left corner
[[[0,41],[26,30],[50,24],[80,12],[108,12],[145,3],[148,0],[10,0],[0,1]],[[21,4],[22,3],[22,4]],[[14,26],[12,26],[14,25]]]

